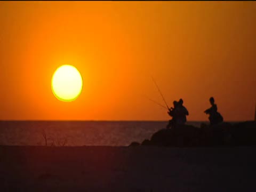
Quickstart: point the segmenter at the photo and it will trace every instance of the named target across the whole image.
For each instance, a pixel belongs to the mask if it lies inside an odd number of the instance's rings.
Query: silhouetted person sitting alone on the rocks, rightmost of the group
[[[209,108],[209,109],[206,109],[204,111],[204,113],[210,115],[209,116],[210,124],[215,125],[215,124],[223,122],[223,117],[217,111],[218,108],[217,108],[217,105],[214,103],[214,98],[213,97],[210,98],[210,103],[211,103],[212,107]]]

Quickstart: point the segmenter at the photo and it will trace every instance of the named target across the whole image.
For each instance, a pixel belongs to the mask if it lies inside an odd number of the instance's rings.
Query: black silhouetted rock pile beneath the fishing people
[[[256,122],[242,122],[234,125],[223,122],[214,126],[202,124],[201,127],[179,125],[175,129],[157,131],[150,140],[144,140],[141,145],[165,147],[256,145]]]

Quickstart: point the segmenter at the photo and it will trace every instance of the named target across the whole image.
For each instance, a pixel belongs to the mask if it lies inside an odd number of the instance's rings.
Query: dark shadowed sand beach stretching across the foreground
[[[255,191],[255,149],[0,146],[0,191]]]

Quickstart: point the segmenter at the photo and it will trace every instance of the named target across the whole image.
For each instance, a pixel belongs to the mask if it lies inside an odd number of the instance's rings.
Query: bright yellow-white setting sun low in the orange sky
[[[77,68],[62,65],[52,75],[52,92],[60,101],[74,101],[83,89],[83,78]]]

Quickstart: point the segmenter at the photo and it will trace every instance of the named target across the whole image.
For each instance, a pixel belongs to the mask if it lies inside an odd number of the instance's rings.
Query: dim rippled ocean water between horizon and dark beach
[[[204,122],[188,122],[200,126]],[[166,127],[167,121],[0,121],[0,145],[128,146]],[[45,139],[46,137],[46,139]]]

